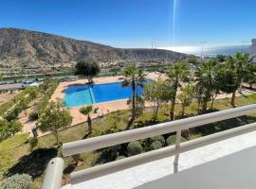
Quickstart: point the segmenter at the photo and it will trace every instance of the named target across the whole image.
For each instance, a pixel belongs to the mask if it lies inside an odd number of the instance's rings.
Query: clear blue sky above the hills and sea
[[[174,0],[0,1],[0,27],[117,47],[151,47],[152,42],[156,46],[200,41],[239,44],[256,38],[255,0],[176,0],[175,29]]]

